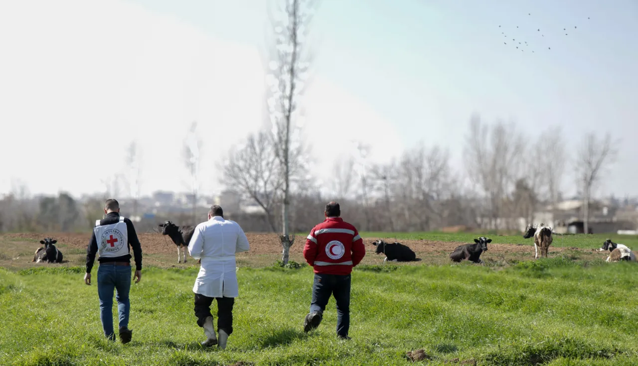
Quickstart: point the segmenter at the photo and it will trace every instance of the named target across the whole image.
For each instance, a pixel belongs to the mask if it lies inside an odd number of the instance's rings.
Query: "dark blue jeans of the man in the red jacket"
[[[350,330],[350,274],[315,273],[313,282],[313,300],[310,313],[318,311],[323,314],[325,306],[334,296],[337,302],[337,334],[345,337]]]

